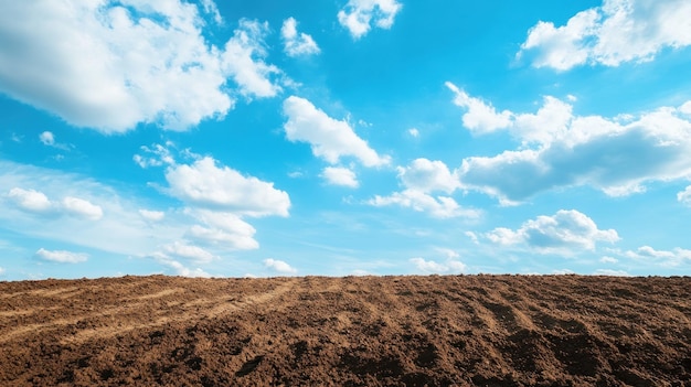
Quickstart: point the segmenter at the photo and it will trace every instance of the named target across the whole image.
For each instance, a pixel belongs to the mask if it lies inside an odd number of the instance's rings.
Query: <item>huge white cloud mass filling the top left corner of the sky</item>
[[[209,44],[203,15],[180,0],[50,0],[3,4],[0,92],[71,125],[123,132],[141,122],[184,130],[246,96],[274,96],[279,69],[266,64],[266,23],[241,21],[223,47]],[[205,13],[204,13],[205,12]],[[55,39],[62,43],[54,44]]]

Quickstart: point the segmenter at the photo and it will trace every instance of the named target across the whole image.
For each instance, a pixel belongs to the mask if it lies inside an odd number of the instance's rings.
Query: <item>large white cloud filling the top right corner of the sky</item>
[[[557,71],[651,61],[662,49],[691,45],[689,20],[691,3],[685,0],[604,0],[562,26],[540,21],[517,56],[529,55],[533,66]]]

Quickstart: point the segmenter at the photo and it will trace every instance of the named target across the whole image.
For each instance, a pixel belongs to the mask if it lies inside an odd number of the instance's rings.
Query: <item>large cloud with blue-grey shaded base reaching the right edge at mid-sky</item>
[[[463,189],[510,205],[555,187],[589,185],[621,196],[645,191],[647,182],[691,175],[691,120],[679,108],[626,120],[581,117],[570,104],[546,97],[536,114],[509,116],[504,129],[522,149],[465,159],[456,171]]]

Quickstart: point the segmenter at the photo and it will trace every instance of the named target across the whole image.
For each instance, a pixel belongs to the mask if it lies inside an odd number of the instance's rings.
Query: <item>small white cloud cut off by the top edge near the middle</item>
[[[396,0],[349,0],[338,13],[338,21],[350,31],[353,39],[364,36],[374,23],[391,29],[403,6]]]

